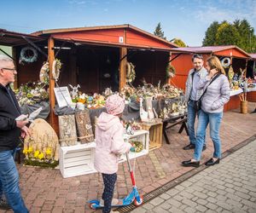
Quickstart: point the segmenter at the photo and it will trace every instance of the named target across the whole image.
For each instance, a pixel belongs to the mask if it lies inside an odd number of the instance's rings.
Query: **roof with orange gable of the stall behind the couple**
[[[250,58],[244,50],[240,49],[236,45],[224,45],[224,46],[206,46],[206,47],[187,47],[187,48],[173,48],[173,52],[178,53],[198,53],[198,54],[214,54],[222,56],[235,56],[239,58]]]

